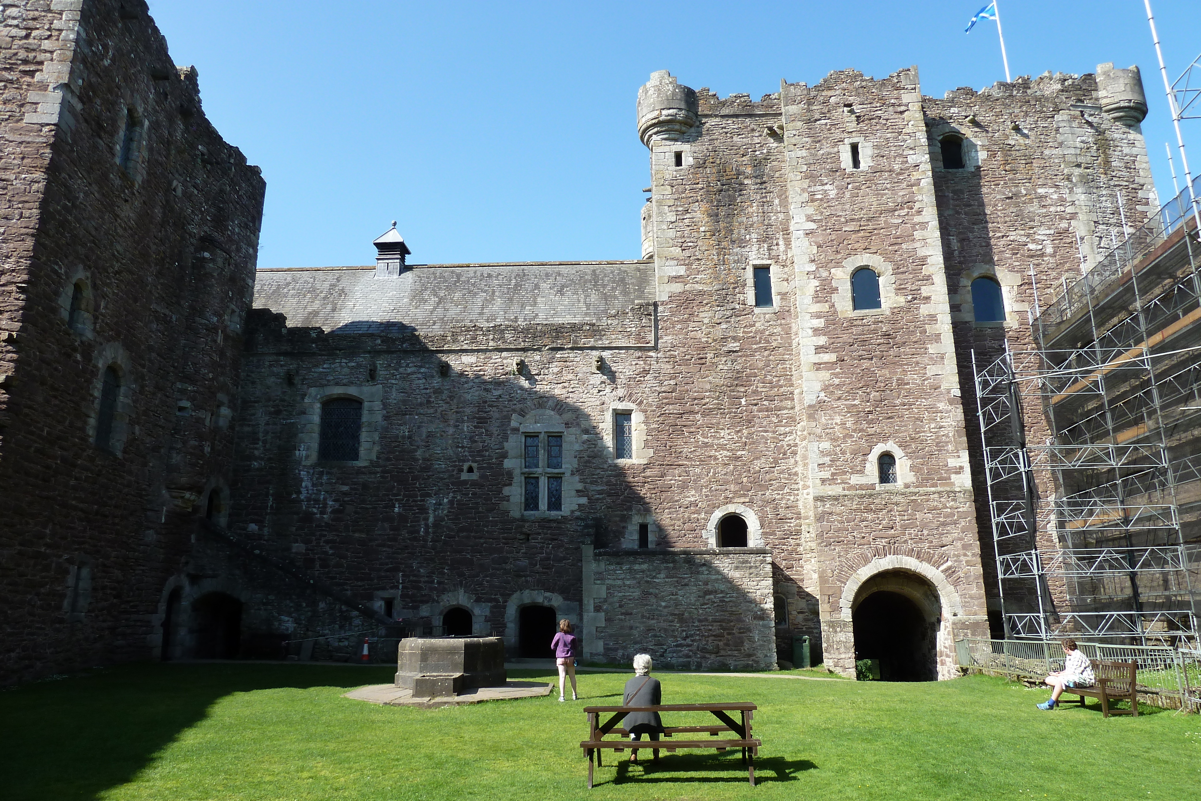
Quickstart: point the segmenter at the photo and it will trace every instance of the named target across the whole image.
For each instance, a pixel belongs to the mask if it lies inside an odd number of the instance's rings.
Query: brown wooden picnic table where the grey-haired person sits
[[[588,739],[580,742],[580,748],[584,748],[584,753],[588,758],[588,789],[592,789],[592,760],[596,758],[597,766],[600,765],[600,754],[603,749],[610,748],[615,753],[621,753],[627,748],[632,753],[637,753],[640,748],[649,748],[655,751],[655,755],[658,757],[659,751],[667,751],[669,753],[676,751],[677,748],[716,748],[717,751],[725,751],[727,748],[741,748],[742,749],[742,764],[747,766],[747,778],[751,781],[751,787],[754,787],[754,758],[759,753],[759,746],[763,745],[759,740],[751,736],[752,719],[754,718],[754,711],[759,709],[751,703],[729,703],[729,704],[665,704],[659,706],[585,706],[584,711],[588,716]],[[613,712],[610,717],[604,723],[600,723],[600,716]],[[605,740],[605,735],[614,734],[620,737],[626,737],[629,731],[619,728],[617,724],[628,715],[629,712],[710,712],[713,717],[718,719],[719,723],[711,725],[675,725],[663,727],[663,736],[670,739],[670,742],[664,740]],[[739,712],[741,715],[741,722],[734,721],[729,716],[729,712]],[[677,734],[707,734],[710,737],[717,737],[723,731],[730,731],[736,737],[733,739],[718,739],[718,740],[677,740],[675,735]]]

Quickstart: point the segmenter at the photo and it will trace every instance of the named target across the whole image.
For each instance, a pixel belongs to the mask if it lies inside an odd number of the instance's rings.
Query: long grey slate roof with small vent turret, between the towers
[[[256,309],[327,333],[600,323],[653,300],[652,262],[418,264],[393,277],[375,267],[261,269],[255,285]]]

